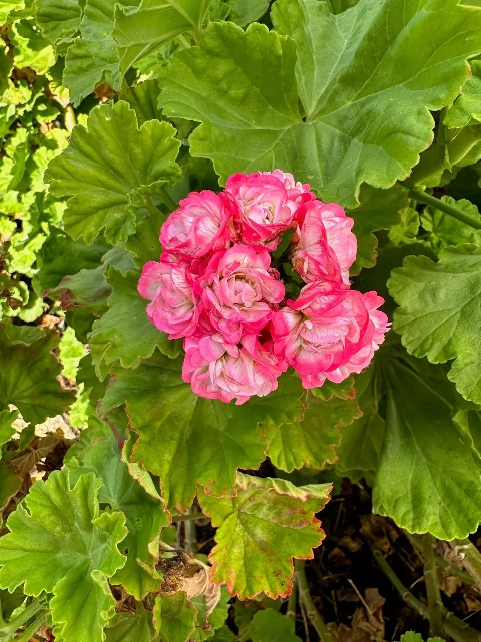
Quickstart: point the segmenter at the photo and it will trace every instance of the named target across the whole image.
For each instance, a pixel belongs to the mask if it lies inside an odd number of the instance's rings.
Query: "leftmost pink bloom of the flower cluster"
[[[162,255],[160,259],[142,268],[139,294],[152,301],[147,306],[148,317],[159,330],[169,333],[169,339],[189,336],[199,320],[199,300],[192,291],[189,268],[176,257]]]

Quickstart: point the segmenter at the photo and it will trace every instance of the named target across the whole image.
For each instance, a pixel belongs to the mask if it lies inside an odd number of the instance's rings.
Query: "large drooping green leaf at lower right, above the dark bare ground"
[[[389,338],[375,357],[385,431],[373,512],[409,532],[466,537],[481,520],[480,462],[453,416],[459,398],[446,368],[410,357]]]

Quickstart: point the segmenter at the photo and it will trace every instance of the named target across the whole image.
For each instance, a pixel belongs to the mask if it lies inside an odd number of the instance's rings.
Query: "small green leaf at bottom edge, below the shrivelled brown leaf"
[[[155,598],[154,618],[163,642],[187,642],[196,628],[197,611],[182,591]]]

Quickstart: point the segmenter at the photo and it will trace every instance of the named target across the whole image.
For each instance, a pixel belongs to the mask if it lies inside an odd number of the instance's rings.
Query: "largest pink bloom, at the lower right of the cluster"
[[[340,383],[369,365],[389,329],[375,292],[339,290],[330,282],[305,286],[272,321],[274,352],[296,369],[305,388]]]

